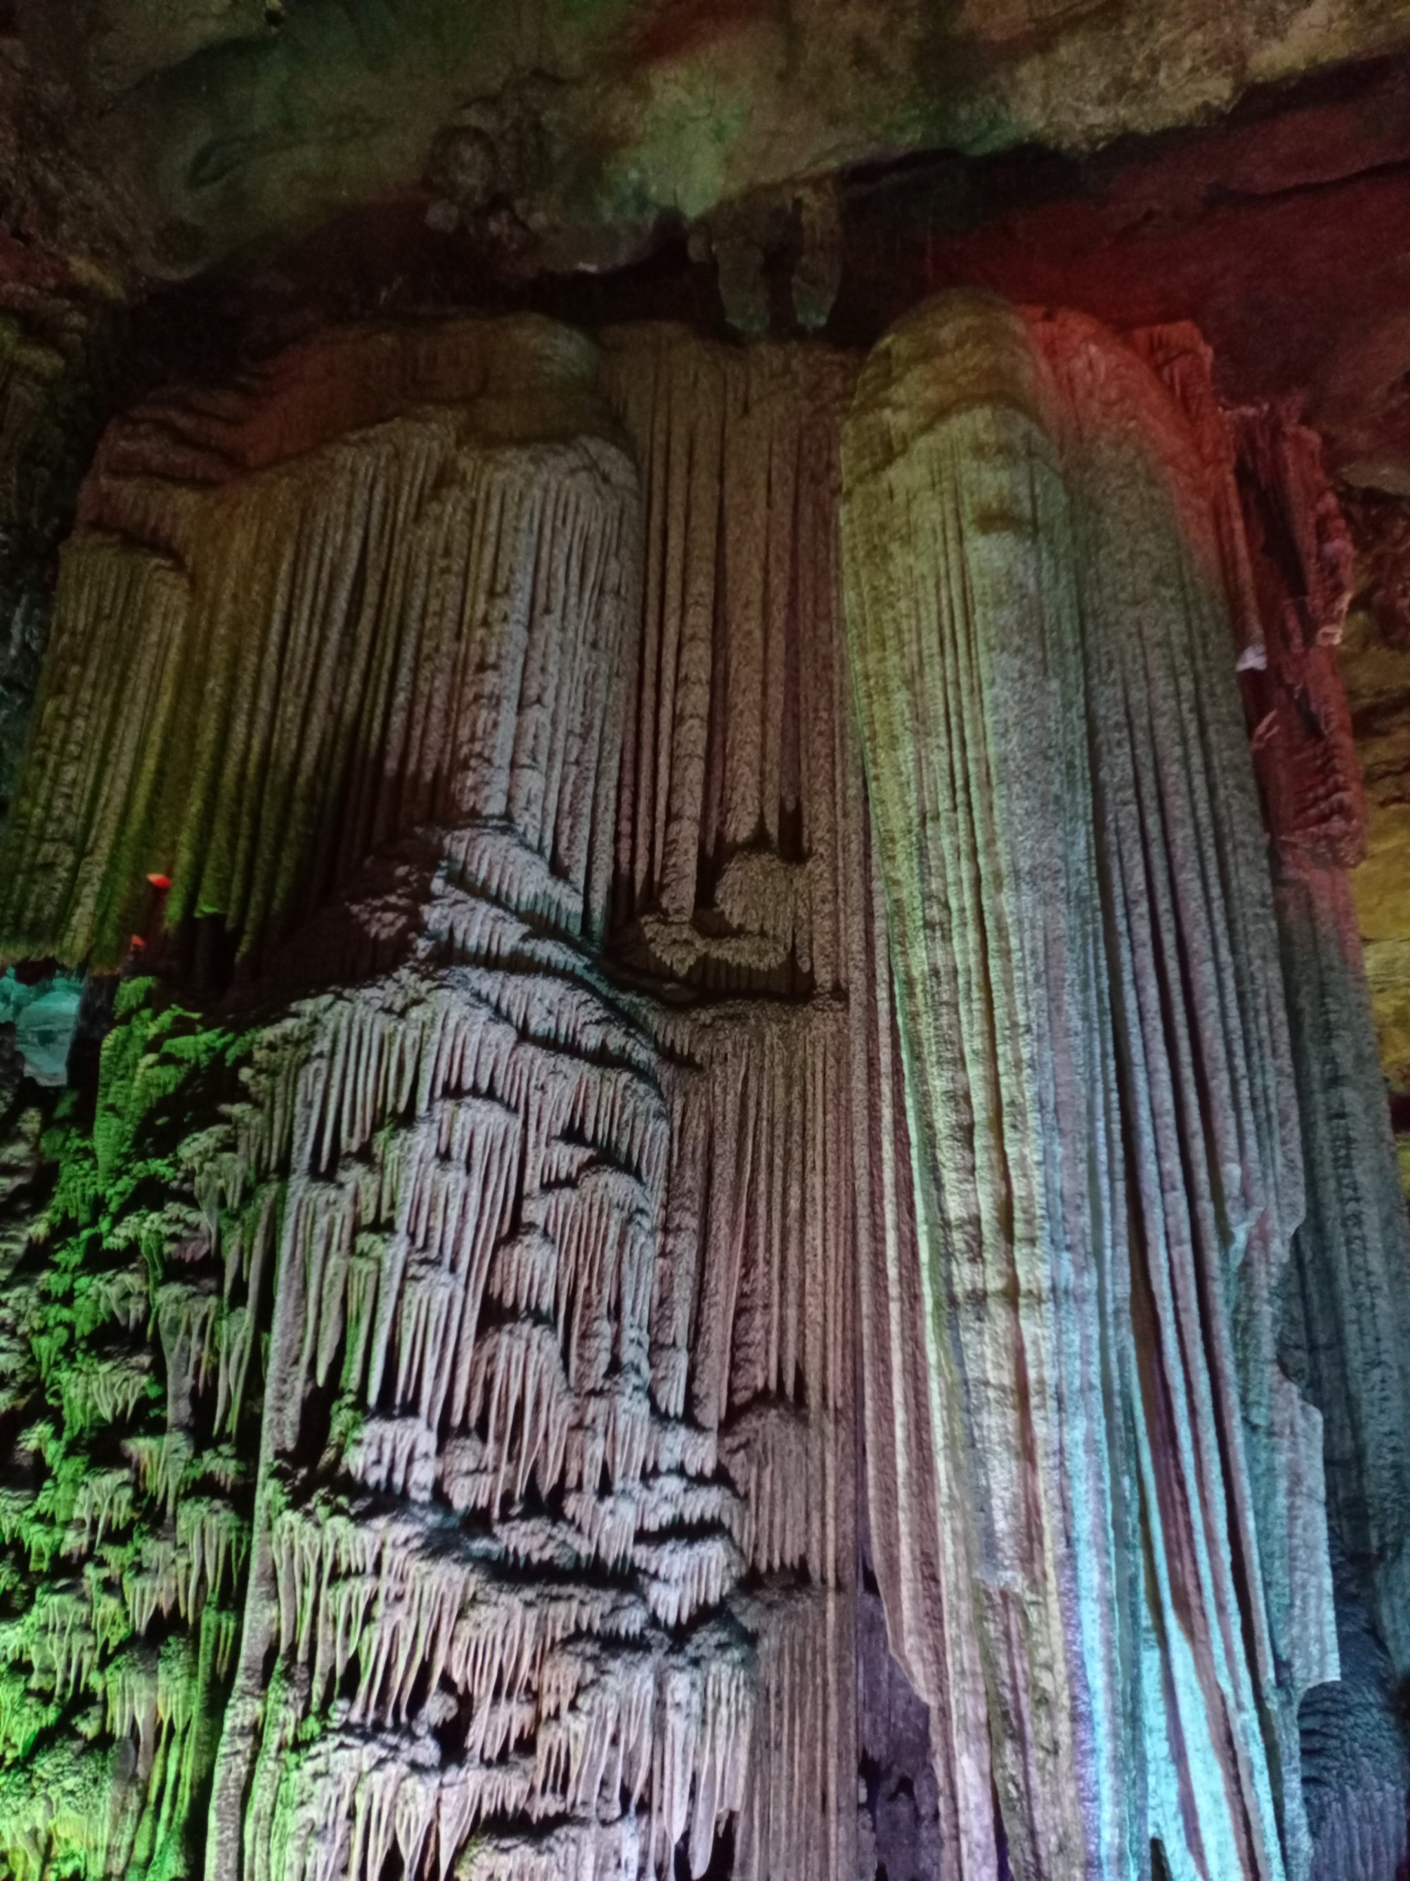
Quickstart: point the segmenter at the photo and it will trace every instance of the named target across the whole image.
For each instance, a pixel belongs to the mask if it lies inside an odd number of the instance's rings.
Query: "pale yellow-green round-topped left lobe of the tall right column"
[[[844,570],[919,1149],[927,1313],[914,1336],[959,1475],[942,1525],[963,1537],[1008,1727],[993,1740],[1017,1868],[1062,1875],[1089,1864],[1079,1768],[1094,1779],[1090,1858],[1120,1847],[1120,1680],[1115,1629],[1092,1636],[1090,1659],[1064,1636],[1081,1627],[1079,1604],[1064,1612],[1064,1484],[1079,1505],[1096,1497],[1102,1527],[1111,1492],[1104,1445],[1087,1439],[1100,1345],[1083,1379],[1051,1302],[1104,1091],[1090,939],[1087,963],[1062,944],[1090,931],[1096,897],[1070,525],[1040,423],[1015,314],[957,301],[908,322],[872,356],[844,435]],[[1058,988],[1072,974],[1072,993],[1051,1001],[1045,969]],[[1045,1153],[1060,1097],[1062,1162]],[[1100,1285],[1096,1260],[1079,1285]],[[1079,1339],[1096,1332],[1081,1319]],[[1098,1618],[1115,1608],[1111,1546],[1087,1565]],[[1079,1747],[1081,1714],[1092,1738]]]

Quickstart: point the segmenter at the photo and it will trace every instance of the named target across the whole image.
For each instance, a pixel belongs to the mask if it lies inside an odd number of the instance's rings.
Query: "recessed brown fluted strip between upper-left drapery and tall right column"
[[[846,984],[837,435],[855,365],[679,327],[605,335],[645,478],[619,925],[709,988]]]

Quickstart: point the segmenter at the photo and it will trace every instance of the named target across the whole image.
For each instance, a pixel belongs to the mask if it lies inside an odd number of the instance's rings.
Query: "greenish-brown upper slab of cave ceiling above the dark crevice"
[[[850,166],[1085,152],[1410,40],[1397,0],[11,0],[4,28],[11,224],[124,278],[399,198],[600,269]]]

